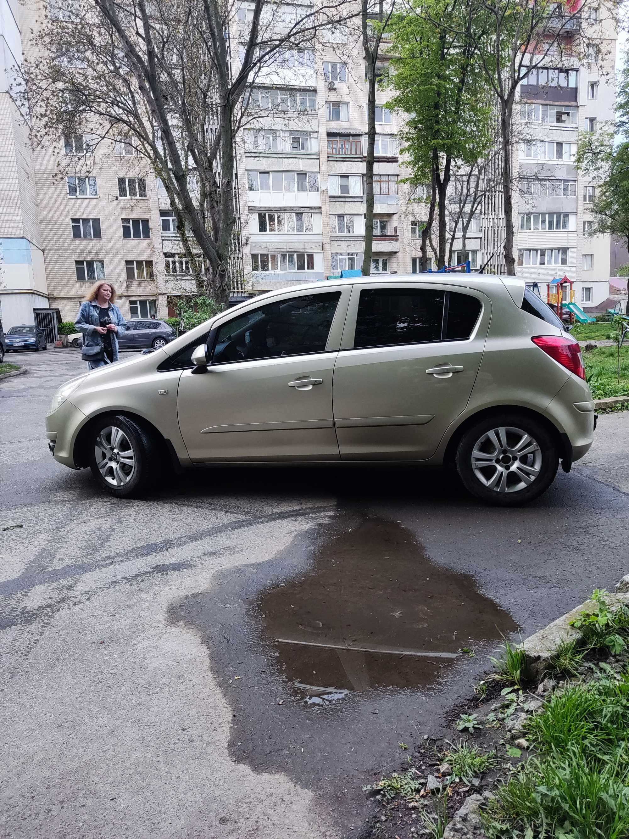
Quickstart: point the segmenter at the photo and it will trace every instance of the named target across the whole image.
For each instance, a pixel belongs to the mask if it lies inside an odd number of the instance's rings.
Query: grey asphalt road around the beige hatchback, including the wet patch
[[[46,446],[78,352],[7,360],[30,372],[0,383],[0,836],[360,836],[362,785],[439,732],[491,626],[526,636],[629,571],[629,414],[522,509],[338,467],[116,501]],[[351,692],[304,705],[294,680]]]

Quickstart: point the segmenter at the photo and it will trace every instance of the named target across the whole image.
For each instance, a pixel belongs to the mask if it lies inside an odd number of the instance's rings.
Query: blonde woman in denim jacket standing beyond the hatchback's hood
[[[83,333],[83,357],[88,370],[118,360],[118,336],[127,329],[127,324],[115,301],[116,289],[101,279],[92,285],[85,302],[81,303],[75,329]]]

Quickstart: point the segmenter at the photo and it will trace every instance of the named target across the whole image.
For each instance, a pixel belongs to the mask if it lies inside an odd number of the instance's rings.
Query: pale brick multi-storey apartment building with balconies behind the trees
[[[239,4],[231,44],[244,38],[252,8],[247,0]],[[309,8],[309,0],[296,0],[289,12]],[[37,25],[33,8],[21,6],[19,13],[23,31]],[[613,86],[605,73],[613,70],[616,31],[603,7],[599,14],[601,19],[591,20],[600,36],[591,60],[580,64],[562,50],[563,55],[548,56],[548,67],[521,87],[521,140],[513,155],[517,274],[537,282],[542,296],[548,281],[567,274],[584,308],[606,298],[609,282],[609,237],[585,235],[596,185],[574,166],[579,131],[596,130],[613,116]],[[232,60],[237,63],[235,49]],[[386,65],[383,56],[383,72]],[[386,90],[377,92],[371,268],[374,275],[413,274],[420,268],[425,207],[401,183],[407,174],[399,156],[402,117],[387,110],[388,96]],[[367,129],[360,33],[351,25],[336,26],[320,30],[311,47],[286,50],[258,74],[249,109],[237,143],[239,290],[259,294],[360,269]],[[16,130],[8,142],[23,148]],[[23,164],[28,176],[15,178],[8,190],[18,189],[19,182],[24,201],[31,202],[23,224],[36,227],[29,239],[36,245],[31,246],[34,291],[44,294],[47,286],[50,307],[71,320],[86,289],[105,277],[116,286],[125,316],[174,314],[173,298],[193,291],[194,282],[174,214],[147,161],[122,138],[93,149],[89,133],[66,138],[62,148],[28,154],[32,163]],[[469,259],[472,269],[488,263],[500,273],[503,239],[497,189],[472,219],[465,248],[455,238],[451,263]]]

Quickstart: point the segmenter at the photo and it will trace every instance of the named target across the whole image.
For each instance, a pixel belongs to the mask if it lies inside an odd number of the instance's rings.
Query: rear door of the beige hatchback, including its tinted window
[[[446,284],[356,284],[333,387],[342,460],[424,460],[465,409],[491,318]]]

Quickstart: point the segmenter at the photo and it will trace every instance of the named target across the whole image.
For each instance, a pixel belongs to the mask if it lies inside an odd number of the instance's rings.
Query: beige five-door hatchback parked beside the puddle
[[[150,355],[65,383],[55,460],[118,497],[175,468],[455,466],[487,503],[537,498],[585,455],[579,344],[521,280],[352,278],[273,291]]]

